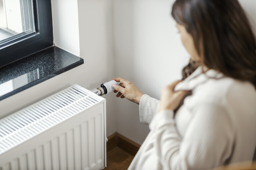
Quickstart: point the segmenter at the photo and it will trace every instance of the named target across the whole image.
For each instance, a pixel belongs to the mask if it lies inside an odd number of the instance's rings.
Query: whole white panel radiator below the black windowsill
[[[73,85],[0,120],[0,170],[106,166],[106,100]]]

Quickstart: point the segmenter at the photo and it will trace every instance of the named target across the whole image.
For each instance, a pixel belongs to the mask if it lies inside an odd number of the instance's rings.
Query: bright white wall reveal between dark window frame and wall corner
[[[52,0],[54,44],[80,55],[77,0]]]

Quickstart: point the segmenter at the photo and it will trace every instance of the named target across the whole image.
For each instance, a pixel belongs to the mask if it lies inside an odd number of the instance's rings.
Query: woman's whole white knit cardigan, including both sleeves
[[[128,170],[206,170],[251,161],[256,145],[256,90],[249,82],[199,67],[175,87],[192,90],[175,118],[143,95],[140,121],[150,133]]]

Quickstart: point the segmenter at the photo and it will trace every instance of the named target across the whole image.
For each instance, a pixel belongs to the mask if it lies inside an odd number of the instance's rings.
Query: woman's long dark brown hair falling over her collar
[[[238,0],[176,0],[172,16],[191,34],[200,64],[256,88],[256,40]],[[190,60],[183,79],[198,65]]]

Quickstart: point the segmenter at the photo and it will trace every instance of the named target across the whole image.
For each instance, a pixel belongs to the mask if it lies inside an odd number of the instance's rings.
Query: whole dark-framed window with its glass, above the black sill
[[[0,67],[52,45],[51,0],[0,0]]]

